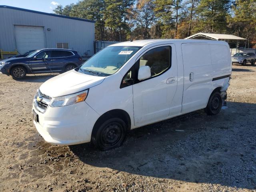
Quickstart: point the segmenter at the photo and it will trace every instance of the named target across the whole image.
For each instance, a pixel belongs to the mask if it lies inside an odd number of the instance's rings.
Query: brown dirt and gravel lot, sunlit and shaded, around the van
[[[199,110],[132,130],[107,152],[38,135],[32,100],[51,77],[0,74],[1,191],[256,191],[256,66],[233,65],[220,114]]]

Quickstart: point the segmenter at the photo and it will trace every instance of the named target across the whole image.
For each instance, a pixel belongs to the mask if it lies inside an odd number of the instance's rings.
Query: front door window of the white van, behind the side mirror
[[[158,76],[171,66],[171,46],[157,47],[146,52],[140,59],[141,66],[149,66],[151,77]]]

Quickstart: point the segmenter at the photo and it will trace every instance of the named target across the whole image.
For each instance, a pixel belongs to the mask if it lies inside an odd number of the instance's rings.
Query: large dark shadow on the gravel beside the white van
[[[236,113],[244,110],[243,114]],[[120,148],[102,152],[70,146],[85,164],[142,176],[256,188],[256,104],[228,102],[216,116],[203,110],[132,130]],[[254,121],[254,122],[253,122]],[[247,145],[248,143],[248,145]],[[253,150],[254,149],[254,150]],[[254,166],[255,167],[255,166]]]

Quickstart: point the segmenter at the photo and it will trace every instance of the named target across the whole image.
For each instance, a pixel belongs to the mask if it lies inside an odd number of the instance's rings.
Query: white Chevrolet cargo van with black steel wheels
[[[231,65],[223,41],[113,44],[40,86],[34,124],[49,143],[92,142],[108,150],[120,146],[134,128],[199,109],[218,114]]]

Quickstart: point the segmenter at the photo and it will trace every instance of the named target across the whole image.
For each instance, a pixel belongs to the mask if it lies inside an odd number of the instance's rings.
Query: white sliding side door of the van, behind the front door
[[[184,90],[182,113],[204,108],[212,92],[210,47],[203,43],[182,44]]]

